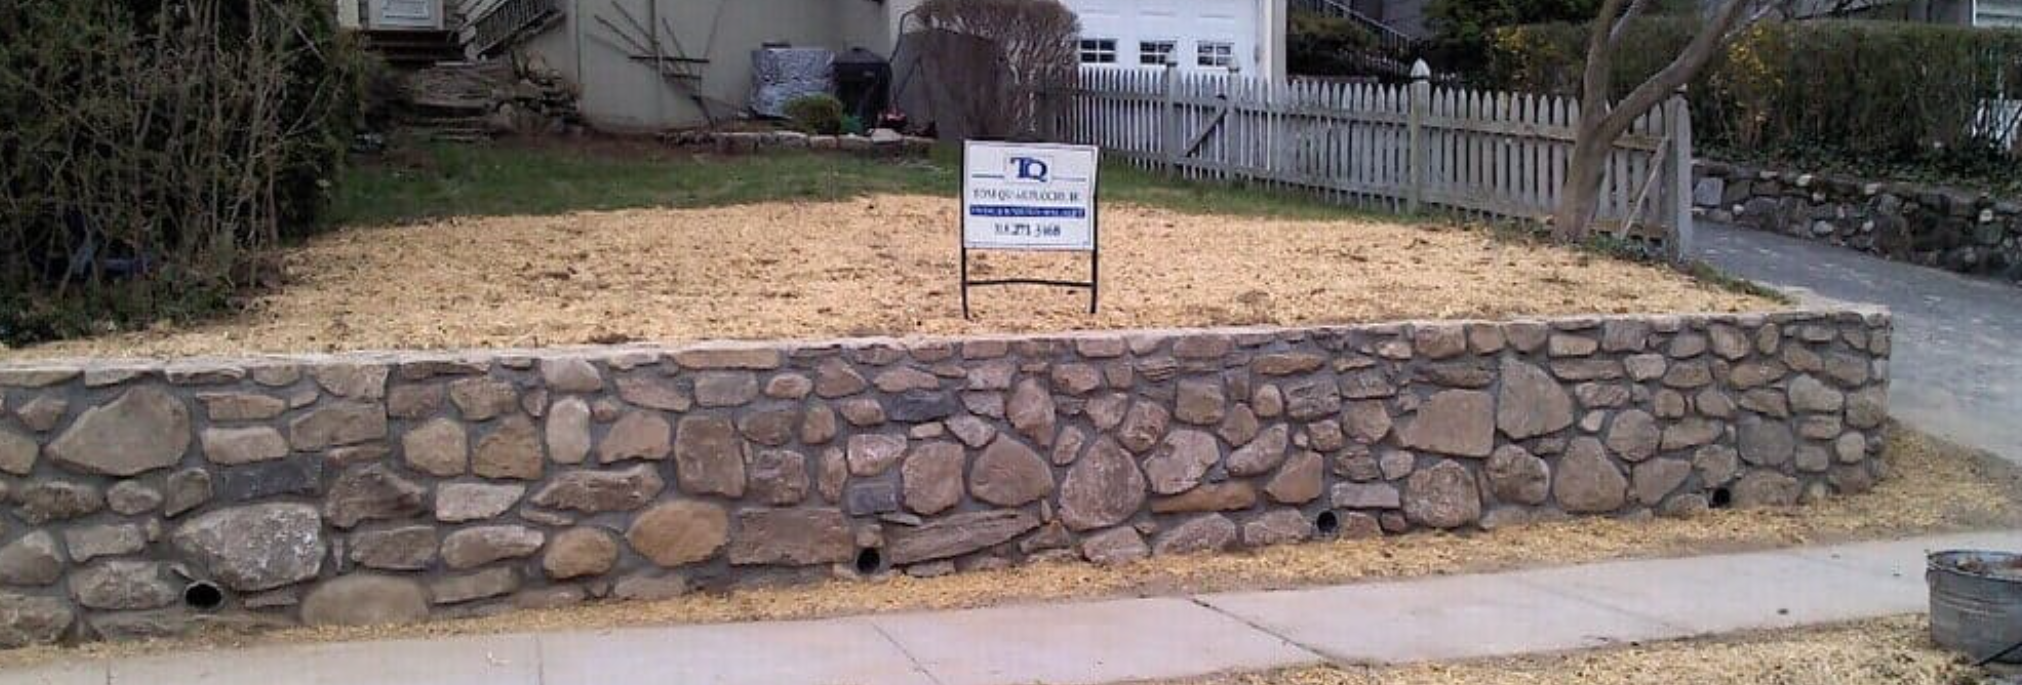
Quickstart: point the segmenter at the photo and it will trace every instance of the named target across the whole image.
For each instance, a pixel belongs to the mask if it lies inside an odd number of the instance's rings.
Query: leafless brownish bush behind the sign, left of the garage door
[[[973,125],[975,131],[1035,135],[1045,111],[1037,95],[1076,83],[1082,20],[1060,0],[926,0],[914,10],[914,28],[991,40],[1003,51],[1001,73],[942,75],[948,83],[1009,77],[1001,83],[1009,107],[977,107],[979,115],[1001,121]]]

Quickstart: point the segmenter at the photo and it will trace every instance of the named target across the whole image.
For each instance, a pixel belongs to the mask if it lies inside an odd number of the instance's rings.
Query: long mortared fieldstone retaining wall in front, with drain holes
[[[1887,313],[0,366],[0,645],[1116,564],[1880,477]]]

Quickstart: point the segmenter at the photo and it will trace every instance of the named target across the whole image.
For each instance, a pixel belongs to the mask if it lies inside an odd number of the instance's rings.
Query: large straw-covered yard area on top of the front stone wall
[[[283,257],[235,317],[0,356],[198,356],[1189,325],[1312,325],[1777,305],[1676,271],[1373,220],[1104,208],[1102,313],[1058,287],[956,293],[956,200],[876,196],[352,228]],[[981,253],[977,277],[1086,277]]]

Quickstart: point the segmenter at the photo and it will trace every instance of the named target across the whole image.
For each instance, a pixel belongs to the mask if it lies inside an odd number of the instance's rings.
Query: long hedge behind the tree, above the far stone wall
[[[1616,57],[1618,95],[1692,38],[1688,18],[1640,20]],[[1500,30],[1470,81],[1571,95],[1585,24]],[[1903,22],[1769,22],[1749,28],[1690,85],[1701,150],[1889,176],[2014,176],[2014,150],[1975,125],[1990,99],[2022,93],[2022,30]]]

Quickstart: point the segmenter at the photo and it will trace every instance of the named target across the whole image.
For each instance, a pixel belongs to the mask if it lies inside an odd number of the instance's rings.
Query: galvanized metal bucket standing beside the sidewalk
[[[1975,663],[2022,663],[2022,554],[1937,552],[1931,586],[1931,641]]]

